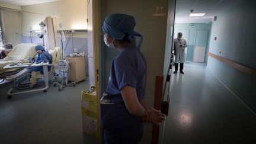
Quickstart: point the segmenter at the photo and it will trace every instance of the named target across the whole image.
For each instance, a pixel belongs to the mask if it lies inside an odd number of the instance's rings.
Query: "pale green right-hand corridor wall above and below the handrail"
[[[213,21],[212,25],[210,53],[256,69],[255,4],[255,1],[245,0],[236,7],[217,15],[217,21]],[[217,40],[214,40],[215,37]],[[255,77],[210,56],[207,69],[236,91],[248,105],[256,107]]]

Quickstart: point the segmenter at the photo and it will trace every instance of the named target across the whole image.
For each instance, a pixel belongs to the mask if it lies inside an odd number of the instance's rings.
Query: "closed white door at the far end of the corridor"
[[[208,39],[207,30],[196,31],[194,59],[193,59],[194,62],[204,62],[207,39]]]

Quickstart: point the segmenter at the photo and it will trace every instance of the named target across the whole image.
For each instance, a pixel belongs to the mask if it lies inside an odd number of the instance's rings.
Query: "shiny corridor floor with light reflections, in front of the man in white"
[[[256,116],[204,63],[186,62],[184,72],[171,76],[163,144],[256,143]]]

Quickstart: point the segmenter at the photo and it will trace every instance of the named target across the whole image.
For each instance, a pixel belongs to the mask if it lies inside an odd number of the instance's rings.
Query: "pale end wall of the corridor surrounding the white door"
[[[174,38],[177,37],[178,32],[180,30],[188,30],[188,47],[187,47],[187,56],[186,60],[193,61],[193,55],[194,55],[194,47],[195,47],[195,38],[196,38],[196,31],[197,30],[207,30],[208,31],[208,40],[207,40],[207,46],[206,46],[206,55],[204,57],[204,62],[207,62],[207,53],[209,51],[209,43],[210,43],[210,33],[212,29],[212,22],[210,23],[193,23],[193,25],[190,25],[189,23],[176,23],[174,25]],[[183,36],[184,37],[184,36]]]

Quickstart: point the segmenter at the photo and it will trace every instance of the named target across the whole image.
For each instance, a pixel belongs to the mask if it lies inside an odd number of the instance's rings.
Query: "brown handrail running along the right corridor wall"
[[[244,65],[241,65],[239,63],[233,62],[232,60],[226,59],[224,57],[217,56],[213,53],[209,53],[209,56],[211,56],[211,57],[213,57],[217,60],[220,60],[220,62],[226,63],[227,65],[232,66],[235,69],[238,69],[238,71],[247,73],[248,75],[251,75],[254,78],[256,78],[256,70],[255,69],[248,68],[247,66],[244,66]]]

